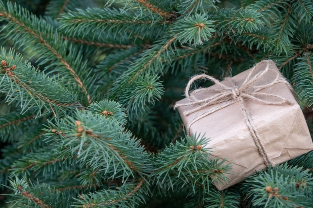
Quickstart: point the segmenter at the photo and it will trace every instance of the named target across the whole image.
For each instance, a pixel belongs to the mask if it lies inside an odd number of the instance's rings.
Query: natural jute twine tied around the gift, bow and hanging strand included
[[[254,71],[259,66],[259,64],[262,62],[266,62],[265,68],[253,76]],[[282,104],[291,105],[292,103],[289,100],[287,100],[281,96],[270,94],[270,93],[259,92],[259,91],[261,91],[265,88],[268,88],[268,87],[270,87],[274,84],[277,84],[277,83],[285,83],[291,89],[291,86],[289,85],[289,83],[277,71],[273,70],[273,72],[276,73],[276,76],[272,79],[272,81],[270,81],[268,83],[261,84],[261,85],[252,85],[257,80],[261,79],[261,77],[267,71],[269,71],[268,61],[262,61],[262,62],[256,64],[250,70],[248,76],[245,78],[245,80],[241,86],[236,86],[230,78],[226,78],[226,80],[231,84],[231,87],[224,85],[223,83],[219,82],[217,79],[215,79],[209,75],[206,75],[206,74],[200,74],[200,75],[196,75],[196,76],[191,77],[191,79],[189,80],[189,82],[185,88],[185,97],[188,98],[190,100],[190,102],[182,103],[182,104],[176,103],[174,108],[177,108],[180,106],[190,106],[190,105],[197,106],[197,107],[193,108],[192,110],[185,111],[183,113],[184,115],[187,116],[187,115],[192,114],[198,110],[204,109],[207,106],[219,104],[216,107],[210,108],[209,110],[201,113],[200,115],[196,116],[191,121],[189,121],[187,126],[186,126],[187,133],[189,134],[190,126],[192,124],[194,124],[196,121],[200,120],[201,118],[206,117],[207,115],[209,115],[215,111],[218,111],[222,108],[225,108],[225,107],[227,107],[233,103],[238,103],[240,105],[241,111],[243,113],[244,121],[248,127],[248,130],[249,130],[252,138],[253,138],[253,141],[257,147],[257,150],[258,150],[259,154],[261,155],[265,166],[268,167],[269,165],[271,165],[271,160],[268,157],[268,154],[264,149],[264,146],[263,146],[263,144],[259,138],[258,132],[254,126],[254,123],[251,119],[251,116],[249,115],[249,113],[245,107],[244,98],[254,100],[254,101],[257,101],[257,102],[265,104],[265,105],[282,105]],[[209,88],[200,88],[200,89],[193,90],[191,93],[189,93],[190,86],[192,85],[192,83],[194,81],[196,81],[198,79],[208,79],[208,80],[211,80],[212,82],[214,82],[216,85],[218,85],[219,88],[213,89],[213,91],[216,92],[216,95],[213,95],[211,97],[207,97],[204,99],[197,99],[194,96],[199,91],[211,90]],[[259,97],[264,97],[264,96],[274,97],[278,101],[277,102],[266,101],[266,100],[259,98]]]

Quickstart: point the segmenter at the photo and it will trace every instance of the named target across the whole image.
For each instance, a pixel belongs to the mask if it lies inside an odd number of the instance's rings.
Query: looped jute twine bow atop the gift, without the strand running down
[[[245,78],[245,80],[243,81],[241,86],[235,85],[233,83],[232,79],[229,77],[225,78],[225,81],[227,83],[229,83],[230,86],[227,86],[227,85],[223,84],[222,82],[220,82],[219,80],[215,79],[214,77],[206,75],[206,74],[199,74],[199,75],[195,75],[195,76],[191,77],[186,88],[185,88],[185,97],[188,98],[190,100],[190,102],[184,103],[184,104],[175,104],[174,109],[177,107],[180,107],[180,106],[190,106],[190,105],[197,106],[193,110],[185,112],[185,115],[189,115],[190,113],[194,113],[194,112],[201,110],[201,109],[203,109],[209,105],[220,104],[220,103],[224,103],[224,102],[228,102],[228,101],[233,103],[233,102],[236,102],[236,101],[241,100],[243,98],[249,98],[249,99],[252,99],[255,101],[260,101],[261,103],[267,104],[267,105],[281,105],[284,103],[290,104],[290,102],[287,99],[282,98],[278,95],[274,95],[274,94],[270,94],[270,93],[262,93],[262,94],[258,93],[259,91],[261,91],[265,88],[268,88],[268,87],[270,87],[276,83],[285,83],[285,84],[288,84],[288,86],[289,86],[289,83],[284,78],[280,77],[279,73],[274,71],[276,73],[276,76],[272,79],[272,81],[270,81],[268,83],[255,85],[255,83],[257,81],[261,80],[262,76],[264,76],[264,74],[266,72],[268,72],[268,70],[269,70],[269,65],[268,65],[268,63],[266,63],[266,66],[263,70],[259,71],[255,75],[253,75],[255,73],[257,65],[258,64],[256,64],[250,70],[249,74],[247,75],[247,77]],[[198,99],[196,97],[196,94],[198,92],[206,91],[206,90],[212,91],[212,89],[210,89],[210,88],[199,88],[199,89],[195,89],[195,90],[189,92],[192,83],[195,82],[196,80],[199,80],[199,79],[210,80],[214,84],[218,85],[219,88],[213,89],[213,91],[216,94],[211,96],[211,97],[206,97],[204,99]],[[273,102],[273,101],[261,100],[258,97],[259,95],[262,95],[262,97],[265,97],[265,98],[266,97],[275,97],[278,101]],[[195,121],[193,121],[193,123],[194,122]]]

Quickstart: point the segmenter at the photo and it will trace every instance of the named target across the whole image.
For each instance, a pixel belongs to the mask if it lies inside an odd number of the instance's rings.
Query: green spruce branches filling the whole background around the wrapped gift
[[[1,0],[1,206],[312,208],[312,152],[217,191],[230,167],[172,109],[192,75],[269,58],[313,130],[312,20],[312,0]]]

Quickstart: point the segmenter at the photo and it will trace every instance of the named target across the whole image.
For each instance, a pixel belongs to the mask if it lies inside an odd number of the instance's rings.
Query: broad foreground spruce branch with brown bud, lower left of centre
[[[118,176],[123,182],[150,170],[145,163],[149,155],[139,142],[102,113],[77,112],[75,119],[67,117],[49,125],[45,141],[55,146],[60,158],[75,158],[80,166],[100,168],[103,176]]]

